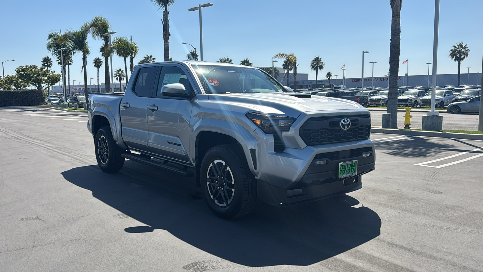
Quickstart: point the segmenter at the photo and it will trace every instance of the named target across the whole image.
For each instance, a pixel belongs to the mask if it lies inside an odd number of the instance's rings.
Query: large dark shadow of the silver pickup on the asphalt
[[[250,215],[229,221],[208,210],[194,179],[135,162],[126,161],[115,174],[84,166],[62,175],[121,212],[112,216],[127,235],[164,229],[209,254],[245,266],[310,265],[380,234],[378,214],[346,195],[284,208],[260,201]],[[141,226],[127,227],[132,221],[123,222],[126,215]],[[183,268],[205,271],[219,265],[219,259],[205,258]]]

